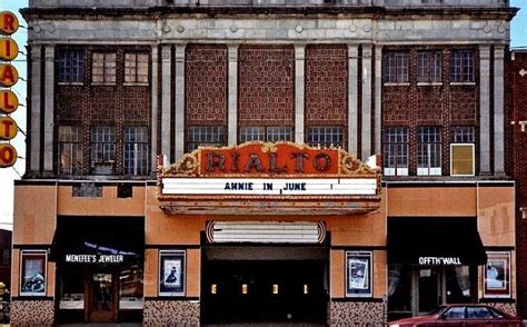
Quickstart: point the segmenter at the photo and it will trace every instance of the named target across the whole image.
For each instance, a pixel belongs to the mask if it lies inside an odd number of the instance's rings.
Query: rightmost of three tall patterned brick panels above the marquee
[[[306,126],[347,126],[348,47],[307,46],[305,72]]]

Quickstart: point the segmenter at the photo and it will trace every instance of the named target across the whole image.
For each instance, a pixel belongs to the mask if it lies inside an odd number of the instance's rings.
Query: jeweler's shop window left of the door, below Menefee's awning
[[[60,278],[60,309],[83,309],[84,308],[84,284],[83,270],[68,269]]]

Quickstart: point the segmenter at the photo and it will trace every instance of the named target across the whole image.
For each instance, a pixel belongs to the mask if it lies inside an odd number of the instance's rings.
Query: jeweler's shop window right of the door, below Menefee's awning
[[[143,268],[139,265],[126,267],[119,276],[119,308],[142,309]]]

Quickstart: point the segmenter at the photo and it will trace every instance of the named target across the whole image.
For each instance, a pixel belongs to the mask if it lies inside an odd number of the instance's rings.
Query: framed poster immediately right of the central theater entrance
[[[371,252],[346,252],[346,295],[371,297]]]

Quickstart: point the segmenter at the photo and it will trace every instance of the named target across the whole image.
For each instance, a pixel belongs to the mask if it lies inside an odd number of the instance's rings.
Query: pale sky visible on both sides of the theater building
[[[527,0],[510,0],[510,6],[519,8],[520,10],[513,19],[511,22],[511,41],[510,44],[515,47],[527,48]],[[0,0],[0,10],[9,10],[14,12],[19,17],[19,22],[22,26],[14,34],[19,49],[23,52],[18,56],[14,60],[14,66],[17,67],[20,77],[23,80],[12,88],[17,93],[21,105],[26,105],[26,87],[27,87],[27,57],[26,52],[26,41],[28,38],[28,30],[24,28],[26,21],[20,16],[20,8],[28,7],[28,0]],[[20,129],[26,132],[26,108],[19,107],[19,109],[11,115],[17,121]],[[13,215],[13,180],[20,179],[24,172],[26,160],[26,137],[22,132],[19,132],[14,138],[12,143],[19,153],[17,164],[12,168],[0,168],[0,229],[10,229],[12,230],[12,215]]]

